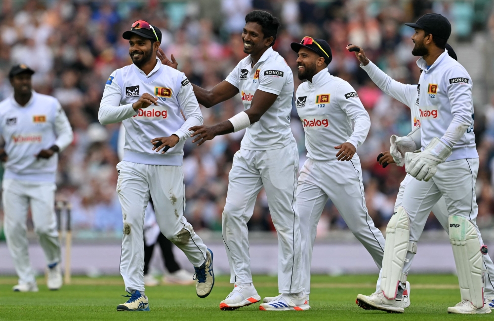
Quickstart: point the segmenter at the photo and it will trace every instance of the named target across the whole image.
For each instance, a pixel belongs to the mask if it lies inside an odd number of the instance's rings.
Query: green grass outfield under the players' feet
[[[357,294],[370,294],[375,288],[375,276],[314,276],[310,295],[311,310],[269,312],[259,311],[259,304],[236,311],[221,311],[219,302],[232,290],[229,278],[217,277],[211,294],[200,299],[194,285],[157,286],[146,289],[150,312],[117,312],[126,298],[121,277],[89,279],[73,278],[72,285],[59,291],[49,291],[38,280],[40,292],[17,293],[11,288],[13,277],[0,277],[0,320],[472,320],[494,318],[494,314],[465,316],[448,315],[447,308],[460,301],[458,281],[453,275],[411,275],[412,306],[405,314],[366,311],[355,304]],[[277,294],[274,277],[255,276],[254,283],[261,297]]]

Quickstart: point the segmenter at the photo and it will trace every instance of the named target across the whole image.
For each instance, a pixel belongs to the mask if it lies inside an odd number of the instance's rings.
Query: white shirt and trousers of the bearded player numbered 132
[[[384,255],[384,237],[369,216],[364,198],[360,158],[338,161],[334,146],[364,143],[371,119],[355,89],[325,69],[302,83],[296,93],[296,107],[305,131],[307,160],[297,185],[300,214],[305,291],[310,293],[310,266],[317,223],[331,199],[355,237],[371,253],[380,269]],[[352,128],[352,121],[355,123]]]

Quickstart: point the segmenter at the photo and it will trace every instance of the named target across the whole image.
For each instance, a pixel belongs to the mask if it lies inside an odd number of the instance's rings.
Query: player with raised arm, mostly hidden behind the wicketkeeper
[[[456,53],[454,52],[453,48],[449,45],[446,44],[446,50],[448,52],[448,55],[453,58],[454,60],[457,60]],[[347,49],[350,48],[356,48],[354,45],[350,45],[347,47]],[[358,48],[358,47],[357,47]],[[412,114],[412,133],[410,133],[406,137],[400,138],[394,138],[394,145],[398,145],[398,147],[392,147],[392,151],[386,151],[384,153],[381,153],[381,157],[379,157],[378,161],[383,167],[386,167],[387,164],[392,164],[392,163],[397,163],[399,166],[404,165],[404,159],[403,156],[398,149],[402,149],[400,146],[405,145],[405,144],[411,144],[412,148],[419,149],[420,147],[420,113],[421,110],[418,108],[418,104],[416,104],[416,101],[418,99],[418,85],[406,85],[402,84],[396,80],[393,80],[391,77],[389,77],[387,74],[385,74],[383,71],[381,71],[376,65],[374,65],[367,57],[363,49],[358,48],[357,52],[355,52],[356,57],[359,59],[361,62],[361,68],[367,71],[369,76],[371,77],[372,81],[386,94],[390,95],[394,99],[402,102],[406,106],[410,107],[411,114]],[[403,142],[403,143],[401,143]],[[397,149],[398,148],[398,149]],[[393,155],[391,155],[393,154]],[[396,158],[396,162],[393,158]],[[403,201],[403,193],[405,191],[405,186],[414,179],[410,174],[407,174],[405,179],[401,182],[400,184],[400,189],[398,191],[398,195],[396,198],[395,202],[395,212],[398,211],[398,208],[402,205]],[[446,202],[444,200],[444,197],[441,197],[439,201],[432,207],[432,213],[436,216],[436,218],[439,220],[443,228],[446,230],[447,233],[449,233],[449,226],[448,226],[448,210],[446,207]],[[421,234],[425,222],[427,220],[427,216],[423,217],[423,220],[418,222],[416,221],[417,228],[419,229],[419,235]],[[416,246],[414,247],[416,249]],[[405,262],[405,270],[407,269],[407,265],[412,265],[412,260],[414,257],[414,252],[411,251],[408,253],[409,255],[409,261]],[[485,278],[485,301],[486,304],[489,304],[490,308],[492,309],[494,307],[494,286],[493,282],[491,280],[491,275],[494,276],[494,264],[489,255],[484,255],[484,267],[487,270],[486,278]],[[401,295],[401,292],[405,286],[403,284],[399,284],[398,287],[398,294],[397,297],[399,299],[399,296]],[[379,287],[380,288],[380,287]],[[410,286],[406,287],[408,294],[410,294]],[[369,305],[368,305],[369,303]],[[362,308],[364,309],[373,309],[374,307],[372,306],[372,301],[366,302],[366,296],[359,295],[357,298],[357,304],[359,304]]]

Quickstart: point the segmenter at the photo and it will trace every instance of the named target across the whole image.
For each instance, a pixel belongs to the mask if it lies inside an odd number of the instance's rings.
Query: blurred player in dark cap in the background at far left
[[[46,285],[62,286],[60,244],[55,216],[55,177],[58,152],[73,140],[72,128],[60,103],[31,88],[34,71],[16,65],[9,72],[14,94],[0,103],[0,134],[5,142],[2,181],[4,229],[19,284],[14,291],[37,292],[29,263],[26,220],[31,209],[34,230],[48,265]]]

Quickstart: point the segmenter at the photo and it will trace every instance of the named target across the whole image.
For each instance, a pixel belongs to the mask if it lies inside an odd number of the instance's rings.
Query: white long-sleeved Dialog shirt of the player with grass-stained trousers
[[[158,106],[135,111],[132,104],[144,93],[158,97]],[[123,160],[147,165],[181,166],[183,146],[192,134],[189,128],[203,124],[199,103],[187,77],[158,59],[147,75],[134,64],[112,72],[106,82],[98,118],[103,125],[122,122],[125,126]],[[165,154],[152,150],[152,139],[173,134],[180,138],[173,148]]]

